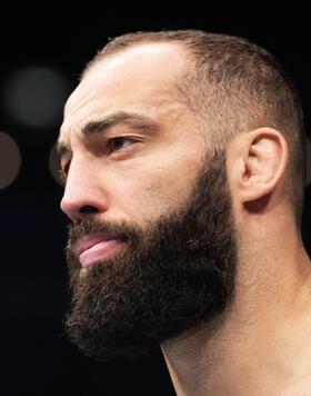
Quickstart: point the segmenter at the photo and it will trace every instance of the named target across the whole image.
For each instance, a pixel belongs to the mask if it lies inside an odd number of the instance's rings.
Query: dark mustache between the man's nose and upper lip
[[[140,238],[138,227],[127,221],[99,220],[86,216],[81,221],[68,226],[68,248],[78,239],[94,232],[113,234],[123,242],[137,242]]]

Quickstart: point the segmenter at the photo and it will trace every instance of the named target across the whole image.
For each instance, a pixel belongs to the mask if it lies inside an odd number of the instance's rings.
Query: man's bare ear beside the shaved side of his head
[[[259,128],[234,140],[228,156],[234,195],[241,204],[267,197],[284,179],[289,157],[284,137],[275,129]]]

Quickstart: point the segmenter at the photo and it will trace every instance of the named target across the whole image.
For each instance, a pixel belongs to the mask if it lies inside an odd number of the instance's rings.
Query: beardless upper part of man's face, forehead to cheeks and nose
[[[98,65],[70,97],[60,142],[70,164],[62,209],[93,207],[143,227],[174,208],[205,157],[189,108],[173,93],[182,68],[172,46],[134,48]]]

